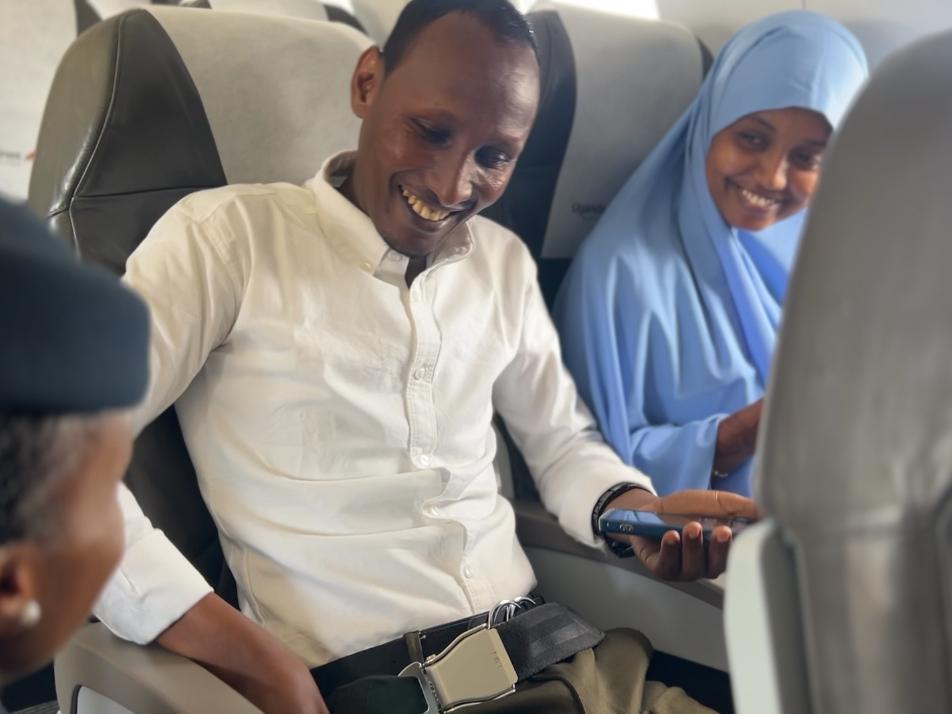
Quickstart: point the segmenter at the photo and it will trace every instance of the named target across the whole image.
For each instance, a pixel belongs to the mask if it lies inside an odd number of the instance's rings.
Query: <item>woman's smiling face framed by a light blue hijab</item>
[[[724,221],[758,231],[805,208],[830,132],[821,114],[789,107],[747,114],[715,134],[705,174]]]

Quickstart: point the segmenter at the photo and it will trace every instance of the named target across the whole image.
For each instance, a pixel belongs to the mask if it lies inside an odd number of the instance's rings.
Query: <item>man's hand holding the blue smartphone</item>
[[[609,501],[605,510],[611,508],[697,514],[714,518],[758,517],[753,501],[728,491],[678,491],[659,498],[648,491],[633,489]],[[703,577],[716,578],[724,572],[732,535],[727,526],[717,526],[711,534],[710,543],[705,544],[701,524],[692,521],[680,533],[668,531],[660,541],[615,534],[610,537],[630,543],[635,555],[659,578],[697,580]]]

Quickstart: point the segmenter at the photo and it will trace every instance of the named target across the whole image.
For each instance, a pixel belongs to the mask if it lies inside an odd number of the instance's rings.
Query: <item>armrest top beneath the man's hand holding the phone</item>
[[[638,558],[619,558],[604,548],[590,548],[579,543],[562,530],[555,516],[546,511],[541,503],[516,499],[512,502],[512,507],[516,512],[516,533],[523,548],[541,548],[566,553],[654,578],[651,571]],[[718,609],[724,607],[724,586],[721,578],[698,580],[692,583],[668,580],[658,580],[658,582]]]

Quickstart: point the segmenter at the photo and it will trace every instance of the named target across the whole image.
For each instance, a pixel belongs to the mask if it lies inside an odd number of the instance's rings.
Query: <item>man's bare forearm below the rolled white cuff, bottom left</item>
[[[240,692],[265,714],[329,714],[307,665],[217,595],[207,595],[158,637]]]

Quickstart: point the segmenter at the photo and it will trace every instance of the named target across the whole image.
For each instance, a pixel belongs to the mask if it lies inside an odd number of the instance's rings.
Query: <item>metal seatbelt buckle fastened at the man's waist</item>
[[[422,714],[447,714],[470,704],[499,699],[516,689],[516,670],[496,630],[485,625],[464,632],[437,655],[400,672],[423,689]]]

